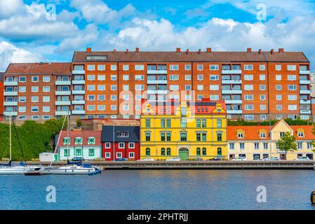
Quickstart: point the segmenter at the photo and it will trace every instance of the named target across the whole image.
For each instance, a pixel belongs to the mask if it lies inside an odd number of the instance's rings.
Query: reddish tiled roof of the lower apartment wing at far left
[[[5,74],[71,75],[71,63],[11,63]]]

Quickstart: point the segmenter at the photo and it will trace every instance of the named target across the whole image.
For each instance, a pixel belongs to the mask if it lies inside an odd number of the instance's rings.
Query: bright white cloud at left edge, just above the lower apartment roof
[[[29,52],[6,41],[0,42],[0,71],[5,71],[11,62],[39,62],[41,55]]]

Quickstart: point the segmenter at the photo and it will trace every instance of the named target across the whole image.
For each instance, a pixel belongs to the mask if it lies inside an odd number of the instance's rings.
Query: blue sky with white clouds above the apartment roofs
[[[314,64],[314,46],[315,0],[0,0],[0,71],[10,62],[71,62],[86,47],[284,48]]]

